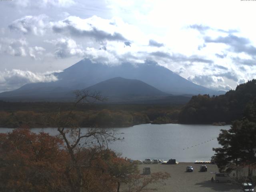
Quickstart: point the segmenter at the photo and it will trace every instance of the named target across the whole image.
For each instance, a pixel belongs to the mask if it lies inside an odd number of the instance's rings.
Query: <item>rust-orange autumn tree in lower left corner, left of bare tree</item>
[[[16,129],[0,134],[1,192],[59,192],[65,186],[61,139]]]

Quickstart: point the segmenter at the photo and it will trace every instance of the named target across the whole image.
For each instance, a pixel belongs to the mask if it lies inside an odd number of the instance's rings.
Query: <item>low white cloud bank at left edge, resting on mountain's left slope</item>
[[[57,81],[53,72],[33,73],[18,69],[0,71],[0,92],[14,90],[27,83]]]

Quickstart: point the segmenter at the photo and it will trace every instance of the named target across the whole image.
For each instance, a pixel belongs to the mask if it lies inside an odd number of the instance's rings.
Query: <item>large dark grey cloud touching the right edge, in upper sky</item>
[[[216,39],[212,39],[208,36],[204,37],[206,43],[224,43],[230,46],[230,50],[236,53],[245,52],[254,56],[256,54],[256,48],[250,44],[248,38],[238,37],[234,35],[228,35],[226,37],[219,36]]]

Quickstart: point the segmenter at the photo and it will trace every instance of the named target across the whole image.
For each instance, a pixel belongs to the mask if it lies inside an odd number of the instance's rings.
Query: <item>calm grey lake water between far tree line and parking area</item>
[[[220,129],[230,126],[184,125],[184,124],[141,124],[128,128],[117,128],[124,141],[110,144],[110,148],[122,153],[123,157],[133,160],[157,158],[178,162],[195,162],[210,160],[214,155],[212,148],[219,147],[217,137]],[[0,128],[0,132],[12,129]],[[33,132],[58,134],[56,128],[33,128]]]

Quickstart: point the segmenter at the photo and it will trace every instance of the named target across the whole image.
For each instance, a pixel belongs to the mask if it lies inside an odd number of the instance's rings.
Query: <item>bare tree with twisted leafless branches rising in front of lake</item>
[[[99,93],[91,94],[88,91],[77,91],[76,102],[68,113],[60,112],[54,117],[54,122],[64,140],[66,150],[70,156],[70,164],[66,167],[66,178],[68,179],[71,192],[82,192],[85,184],[82,168],[87,166],[84,149],[97,146],[99,150],[108,148],[108,143],[115,140],[122,140],[116,136],[116,131],[110,128],[83,128],[81,129],[74,120],[74,110],[83,102],[93,103],[104,101]],[[74,176],[75,175],[75,176]]]

